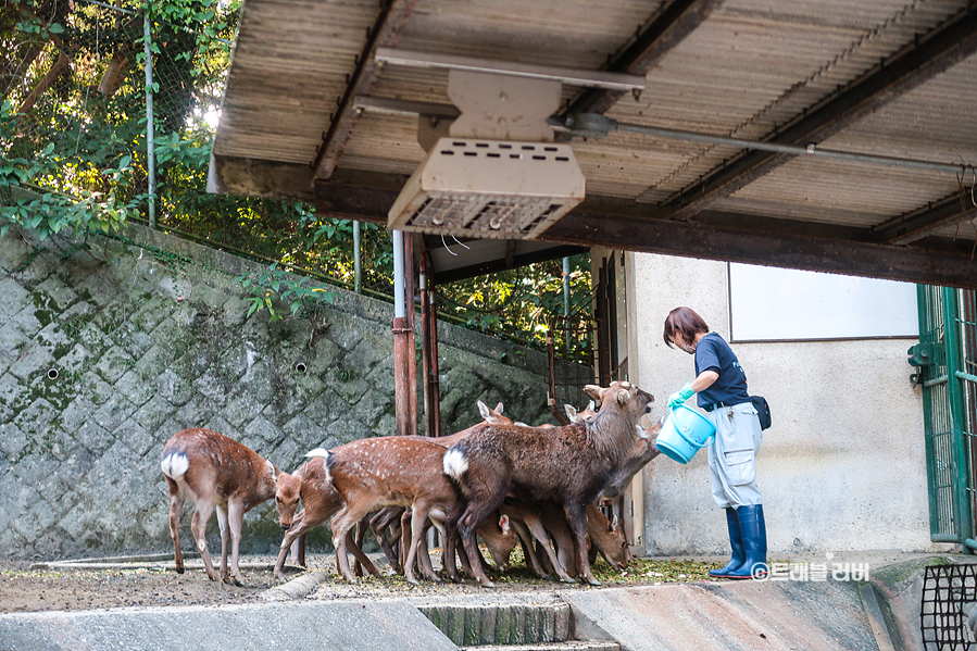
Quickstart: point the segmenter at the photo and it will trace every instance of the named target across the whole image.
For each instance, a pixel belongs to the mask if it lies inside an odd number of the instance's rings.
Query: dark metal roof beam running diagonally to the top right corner
[[[806,146],[823,141],[974,52],[977,52],[977,8],[969,5],[955,20],[919,39],[918,45],[882,62],[839,95],[798,116],[767,142]],[[792,158],[769,151],[748,151],[705,179],[690,185],[664,202],[663,208],[671,211],[673,220],[689,220]]]

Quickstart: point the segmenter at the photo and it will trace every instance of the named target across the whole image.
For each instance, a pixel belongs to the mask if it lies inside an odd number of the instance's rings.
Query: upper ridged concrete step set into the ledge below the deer
[[[417,608],[459,647],[539,644],[574,639],[573,616],[566,603],[444,603]]]

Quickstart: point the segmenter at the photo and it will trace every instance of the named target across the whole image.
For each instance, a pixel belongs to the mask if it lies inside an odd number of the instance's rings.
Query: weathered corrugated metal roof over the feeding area
[[[356,109],[351,96],[451,104],[444,70],[379,66],[372,53],[381,46],[637,72],[646,77],[639,95],[562,90],[564,107],[579,98],[625,125],[975,165],[975,11],[966,0],[247,0],[214,154],[277,162],[290,178],[305,179],[311,165],[316,196],[330,192],[326,209],[341,201],[345,186],[335,184],[349,185],[352,171],[381,205],[388,195],[376,192],[398,191],[425,155],[418,118]],[[954,172],[791,159],[631,132],[571,141],[586,203],[612,205],[600,209],[612,211],[610,220],[652,220],[666,229],[735,223],[750,237],[785,238],[810,235],[803,224],[827,225],[836,237],[884,251],[909,245],[925,252],[975,237],[956,226],[969,226],[977,206],[964,202],[954,216],[954,193],[965,185]],[[248,187],[236,180],[227,185]],[[383,218],[380,209],[356,205],[364,218]],[[604,237],[599,227],[579,230],[574,214],[548,234]],[[612,236],[601,243],[613,245]],[[696,254],[713,254],[703,251]]]

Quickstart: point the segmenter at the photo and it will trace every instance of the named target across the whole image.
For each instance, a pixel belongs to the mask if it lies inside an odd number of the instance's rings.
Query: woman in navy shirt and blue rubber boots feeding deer
[[[717,578],[764,576],[766,525],[756,487],[756,453],[763,435],[760,418],[747,391],[747,374],[729,345],[689,308],[676,308],[665,320],[665,343],[696,355],[696,379],[668,398],[674,409],[699,395],[716,436],[709,447],[713,499],[726,510],[732,558]]]

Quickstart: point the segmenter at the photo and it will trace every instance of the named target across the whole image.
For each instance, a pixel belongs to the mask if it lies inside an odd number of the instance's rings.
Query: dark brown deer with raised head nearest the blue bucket
[[[588,392],[601,401],[590,421],[548,429],[480,424],[444,453],[444,474],[458,484],[463,498],[463,509],[447,525],[459,530],[484,587],[494,584],[476,562],[475,530],[506,494],[563,506],[578,574],[590,585],[600,585],[587,558],[586,504],[597,499],[611,473],[627,458],[637,421],[654,398],[627,381],[611,383],[605,389],[591,385]]]

